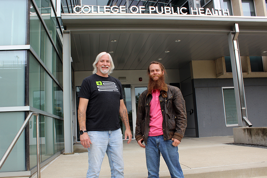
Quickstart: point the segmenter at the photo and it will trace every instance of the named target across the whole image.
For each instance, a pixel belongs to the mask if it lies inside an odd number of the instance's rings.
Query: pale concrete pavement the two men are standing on
[[[267,149],[232,144],[233,136],[184,137],[179,144],[179,161],[185,178],[267,178]],[[73,155],[59,155],[41,170],[42,178],[85,178],[88,169],[87,149],[74,145]],[[123,141],[124,177],[145,178],[145,149],[136,140]],[[107,155],[102,163],[101,178],[110,178]],[[160,178],[171,177],[160,158]]]

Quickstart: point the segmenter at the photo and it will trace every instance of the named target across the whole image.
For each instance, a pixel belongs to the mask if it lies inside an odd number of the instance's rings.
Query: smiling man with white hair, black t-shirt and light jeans
[[[80,140],[82,146],[88,148],[86,178],[99,177],[105,153],[109,159],[111,177],[123,178],[123,140],[119,116],[126,128],[125,139],[128,136],[128,144],[132,133],[123,102],[122,85],[109,75],[114,69],[109,53],[98,54],[93,66],[93,75],[82,81],[78,96]]]

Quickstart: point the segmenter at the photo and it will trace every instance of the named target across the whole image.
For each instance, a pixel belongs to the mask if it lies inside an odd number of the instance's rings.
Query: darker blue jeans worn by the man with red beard
[[[172,140],[164,141],[163,135],[148,136],[145,149],[148,178],[159,178],[160,153],[168,166],[171,177],[184,178],[179,163],[178,147],[174,147],[172,142]]]

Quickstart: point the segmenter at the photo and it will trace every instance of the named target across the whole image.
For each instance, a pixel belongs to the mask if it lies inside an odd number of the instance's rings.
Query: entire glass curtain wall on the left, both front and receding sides
[[[9,46],[9,50],[0,50],[0,90],[5,93],[0,97],[1,156],[29,113],[17,108],[24,106],[42,113],[41,161],[64,149],[62,21],[56,18],[53,2],[0,1],[0,46]],[[13,45],[25,49],[14,50]],[[36,117],[32,116],[0,172],[34,168],[36,144]]]

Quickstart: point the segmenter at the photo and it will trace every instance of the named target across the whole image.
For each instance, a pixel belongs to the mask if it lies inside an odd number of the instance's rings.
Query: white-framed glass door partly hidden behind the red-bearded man
[[[141,93],[147,89],[147,84],[136,84],[132,85],[132,108],[133,108],[133,129],[135,136],[135,126],[136,126],[136,113],[138,108],[138,100]]]

